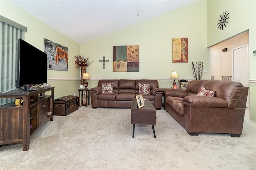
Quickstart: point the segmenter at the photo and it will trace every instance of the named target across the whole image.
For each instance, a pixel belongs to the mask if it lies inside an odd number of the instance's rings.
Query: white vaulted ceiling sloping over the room
[[[84,43],[197,0],[8,1],[72,40]]]

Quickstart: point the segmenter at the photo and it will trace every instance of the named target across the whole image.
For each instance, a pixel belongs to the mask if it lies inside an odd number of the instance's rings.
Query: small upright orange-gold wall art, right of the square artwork
[[[188,63],[188,38],[172,38],[172,62]]]

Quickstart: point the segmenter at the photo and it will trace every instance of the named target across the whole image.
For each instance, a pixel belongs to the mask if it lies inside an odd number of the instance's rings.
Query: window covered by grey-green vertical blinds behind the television
[[[27,28],[0,16],[0,85],[1,92],[6,92],[16,87],[17,79],[17,43],[18,39],[24,40]],[[0,99],[0,105],[14,101],[12,98]]]

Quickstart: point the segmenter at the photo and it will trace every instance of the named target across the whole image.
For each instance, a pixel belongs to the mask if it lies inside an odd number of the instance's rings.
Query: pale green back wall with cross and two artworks
[[[104,27],[102,27],[104,29]],[[98,79],[157,79],[159,86],[170,88],[172,71],[181,79],[194,79],[192,61],[204,61],[203,79],[210,79],[210,49],[206,46],[206,1],[198,1],[150,20],[81,44],[80,54],[94,60],[86,68],[89,87]],[[188,38],[188,63],[172,63],[172,38]],[[140,45],[139,72],[113,72],[114,45]],[[105,62],[102,69],[102,56]]]

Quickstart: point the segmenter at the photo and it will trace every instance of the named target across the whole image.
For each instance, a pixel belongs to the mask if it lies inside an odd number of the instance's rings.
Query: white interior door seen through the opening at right
[[[245,87],[249,87],[249,56],[248,45],[243,45],[232,49],[232,78],[233,81],[242,83]],[[250,108],[249,93],[247,97],[246,107]]]

